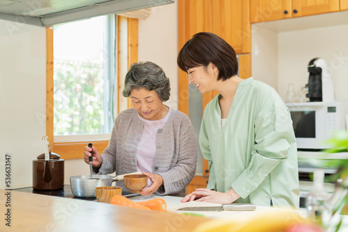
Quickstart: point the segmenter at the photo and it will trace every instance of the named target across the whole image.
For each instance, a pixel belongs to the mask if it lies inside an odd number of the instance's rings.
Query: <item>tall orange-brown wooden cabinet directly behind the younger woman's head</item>
[[[200,31],[219,35],[237,54],[251,53],[249,1],[245,0],[178,0],[179,50],[187,40]],[[250,65],[249,65],[250,66]],[[179,71],[179,110],[189,115],[187,73]],[[212,91],[203,94],[205,105],[216,96]]]

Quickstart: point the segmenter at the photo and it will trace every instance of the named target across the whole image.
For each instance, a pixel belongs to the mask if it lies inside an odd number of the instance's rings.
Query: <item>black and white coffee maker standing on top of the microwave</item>
[[[314,58],[308,64],[308,94],[309,101],[334,101],[333,82],[328,72],[325,60]]]

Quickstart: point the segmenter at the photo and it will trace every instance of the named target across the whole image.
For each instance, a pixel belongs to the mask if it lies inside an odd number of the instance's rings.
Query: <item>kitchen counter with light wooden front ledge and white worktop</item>
[[[54,197],[17,190],[0,190],[0,231],[193,231],[198,225],[212,219],[241,222],[259,214],[279,208],[257,206],[253,211],[177,211],[188,206],[219,206],[205,202],[181,203],[181,197],[150,196],[130,197],[132,201],[164,199],[167,212],[157,212],[114,206],[97,201],[81,201],[70,197]],[[306,215],[304,210],[292,210]],[[6,226],[6,213],[10,212],[10,226]],[[189,215],[187,215],[189,213]],[[191,215],[190,215],[191,213]],[[200,217],[197,217],[200,216]],[[347,231],[348,216],[340,231]]]

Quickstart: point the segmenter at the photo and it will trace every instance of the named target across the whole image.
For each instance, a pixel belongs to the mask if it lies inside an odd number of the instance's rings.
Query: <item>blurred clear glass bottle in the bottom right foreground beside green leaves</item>
[[[313,187],[307,195],[306,208],[308,216],[319,225],[324,225],[326,215],[326,200],[329,194],[324,190],[324,170],[315,169],[313,174]]]

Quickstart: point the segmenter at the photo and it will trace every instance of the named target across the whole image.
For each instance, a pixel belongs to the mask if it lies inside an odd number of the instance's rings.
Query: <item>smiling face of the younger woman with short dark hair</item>
[[[215,90],[219,71],[212,63],[210,63],[207,67],[198,66],[187,69],[187,74],[189,84],[196,85],[196,88],[201,93]]]

